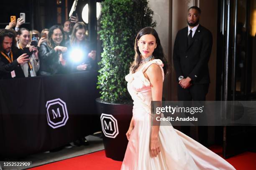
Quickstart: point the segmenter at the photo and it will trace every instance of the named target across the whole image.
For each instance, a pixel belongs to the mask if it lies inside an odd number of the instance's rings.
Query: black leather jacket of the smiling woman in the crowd
[[[59,53],[55,52],[54,49],[49,47],[46,42],[42,42],[39,47],[38,53],[39,61],[40,61],[40,72],[44,71],[49,74],[58,74],[65,73],[66,69],[59,62]]]

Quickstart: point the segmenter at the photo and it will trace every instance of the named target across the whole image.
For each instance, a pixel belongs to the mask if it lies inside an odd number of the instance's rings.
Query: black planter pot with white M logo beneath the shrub
[[[99,98],[96,99],[96,103],[100,115],[106,157],[123,161],[128,144],[125,133],[133,115],[133,104],[108,103]]]

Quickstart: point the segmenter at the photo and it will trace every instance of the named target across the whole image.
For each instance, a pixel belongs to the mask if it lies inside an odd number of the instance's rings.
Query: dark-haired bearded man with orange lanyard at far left
[[[0,31],[0,79],[25,77],[20,65],[28,62],[28,55],[18,49],[13,30]]]

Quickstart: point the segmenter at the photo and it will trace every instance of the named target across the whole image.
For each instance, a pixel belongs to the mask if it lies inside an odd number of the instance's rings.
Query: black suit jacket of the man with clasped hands
[[[190,77],[194,84],[210,83],[208,61],[212,51],[212,33],[199,25],[190,45],[188,28],[179,30],[174,42],[173,62],[179,76]]]

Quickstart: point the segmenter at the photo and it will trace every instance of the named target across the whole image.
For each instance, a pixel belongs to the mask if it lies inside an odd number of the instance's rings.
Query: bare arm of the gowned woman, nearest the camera
[[[161,101],[163,92],[163,75],[159,65],[152,64],[146,70],[145,75],[151,83],[152,100]],[[154,121],[154,117],[153,117]],[[156,121],[154,121],[156,122]],[[157,156],[160,152],[159,143],[159,125],[153,123],[150,137],[150,152],[153,157]]]

